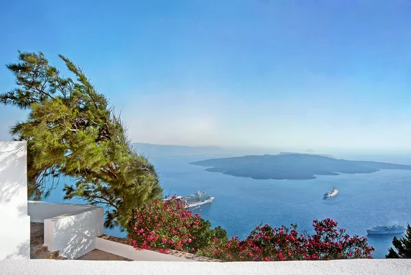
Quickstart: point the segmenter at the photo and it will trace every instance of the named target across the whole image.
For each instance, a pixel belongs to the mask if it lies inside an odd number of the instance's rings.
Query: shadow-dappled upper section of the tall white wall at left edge
[[[25,142],[0,142],[0,209],[8,215],[27,215]]]

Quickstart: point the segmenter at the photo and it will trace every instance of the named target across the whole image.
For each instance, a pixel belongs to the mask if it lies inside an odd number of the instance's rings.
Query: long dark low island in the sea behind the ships
[[[315,175],[369,174],[380,169],[411,170],[411,165],[343,160],[314,154],[280,153],[264,156],[212,158],[191,165],[206,171],[257,180],[311,180]]]

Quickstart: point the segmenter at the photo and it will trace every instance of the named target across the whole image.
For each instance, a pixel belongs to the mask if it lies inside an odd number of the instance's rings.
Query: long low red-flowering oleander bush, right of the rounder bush
[[[371,258],[375,250],[365,237],[349,237],[345,229],[336,229],[332,219],[314,219],[314,235],[297,232],[297,226],[272,228],[257,226],[245,240],[212,240],[199,254],[223,261],[291,261]]]

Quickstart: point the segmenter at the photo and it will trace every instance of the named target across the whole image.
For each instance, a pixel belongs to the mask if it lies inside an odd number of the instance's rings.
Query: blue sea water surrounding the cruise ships
[[[279,227],[297,224],[312,232],[312,220],[330,217],[349,235],[366,236],[366,228],[396,222],[411,224],[411,171],[382,170],[373,174],[319,176],[313,180],[253,180],[205,171],[188,163],[204,156],[163,156],[151,158],[159,171],[164,193],[190,195],[206,191],[215,199],[193,210],[212,226],[221,226],[229,236],[245,238],[258,224]],[[47,198],[62,202],[62,184]],[[339,194],[323,200],[335,186]],[[71,200],[79,203],[80,200]],[[125,237],[125,232],[107,230]],[[401,235],[399,235],[401,237]],[[393,236],[369,237],[376,250],[374,258],[384,258]]]

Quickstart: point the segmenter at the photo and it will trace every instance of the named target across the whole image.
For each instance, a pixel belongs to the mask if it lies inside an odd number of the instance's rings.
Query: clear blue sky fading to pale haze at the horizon
[[[61,53],[134,142],[411,152],[411,1],[5,1],[0,34],[0,93]]]

